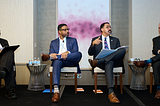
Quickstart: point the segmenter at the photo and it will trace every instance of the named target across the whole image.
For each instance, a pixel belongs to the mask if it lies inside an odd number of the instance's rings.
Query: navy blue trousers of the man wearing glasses
[[[77,67],[79,61],[81,60],[82,54],[80,52],[74,52],[68,54],[66,60],[58,58],[53,60],[53,82],[54,84],[59,85],[60,81],[60,72],[63,67]],[[78,67],[79,68],[79,67]]]

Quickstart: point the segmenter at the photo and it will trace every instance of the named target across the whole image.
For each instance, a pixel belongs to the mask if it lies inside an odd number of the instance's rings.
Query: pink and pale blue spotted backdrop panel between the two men
[[[90,68],[88,48],[92,38],[101,34],[103,22],[109,22],[109,0],[58,0],[58,24],[67,24],[69,36],[77,38],[82,52],[81,69]]]

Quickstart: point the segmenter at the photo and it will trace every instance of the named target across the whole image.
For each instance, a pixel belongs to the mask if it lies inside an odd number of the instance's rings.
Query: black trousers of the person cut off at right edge
[[[155,85],[160,85],[160,54],[151,58],[153,60],[153,74],[155,79]]]

